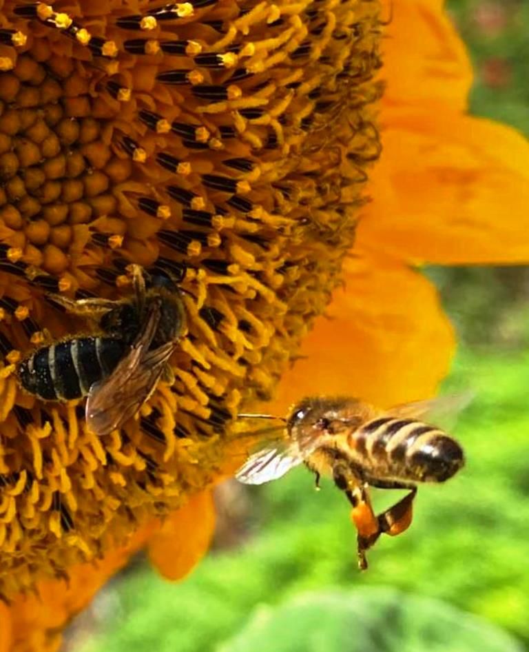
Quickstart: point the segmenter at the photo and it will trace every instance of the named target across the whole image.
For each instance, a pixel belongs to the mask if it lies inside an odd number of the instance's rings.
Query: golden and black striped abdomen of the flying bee
[[[373,419],[351,433],[351,439],[366,467],[394,480],[444,482],[464,465],[463,451],[453,438],[415,419]]]

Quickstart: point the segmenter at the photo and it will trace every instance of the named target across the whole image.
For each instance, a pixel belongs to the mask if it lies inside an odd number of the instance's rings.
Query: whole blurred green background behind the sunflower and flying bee
[[[396,0],[398,1],[398,0]],[[453,0],[472,110],[529,134],[529,2]],[[214,551],[164,582],[142,558],[74,622],[76,652],[510,652],[529,644],[529,270],[430,268],[459,332],[446,391],[468,467],[419,491],[413,527],[355,568],[343,496],[304,470],[218,492]]]

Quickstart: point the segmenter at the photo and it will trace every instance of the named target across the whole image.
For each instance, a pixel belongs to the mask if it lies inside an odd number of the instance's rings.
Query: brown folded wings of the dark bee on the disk
[[[158,327],[160,306],[152,305],[145,329],[120,360],[112,374],[94,383],[86,401],[86,420],[90,429],[103,436],[121,427],[152,394],[163,367],[169,360],[174,343],[149,351]]]

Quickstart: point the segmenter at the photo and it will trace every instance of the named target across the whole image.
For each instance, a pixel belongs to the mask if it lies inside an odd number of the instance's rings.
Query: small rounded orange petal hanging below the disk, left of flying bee
[[[165,578],[180,580],[207,552],[214,526],[211,491],[197,493],[149,539],[149,559]]]

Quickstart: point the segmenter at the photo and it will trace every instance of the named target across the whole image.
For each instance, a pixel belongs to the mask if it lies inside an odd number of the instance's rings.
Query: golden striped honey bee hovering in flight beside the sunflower
[[[464,453],[457,441],[422,418],[461,409],[464,403],[468,403],[466,396],[447,396],[382,411],[356,398],[304,398],[286,419],[279,418],[284,426],[267,429],[276,438],[269,438],[249,456],[236,478],[260,485],[300,464],[315,473],[317,488],[320,476],[331,476],[352,505],[358,565],[364,570],[366,551],[381,534],[396,536],[410,526],[417,485],[444,482],[463,467]],[[409,492],[375,515],[369,487]]]

